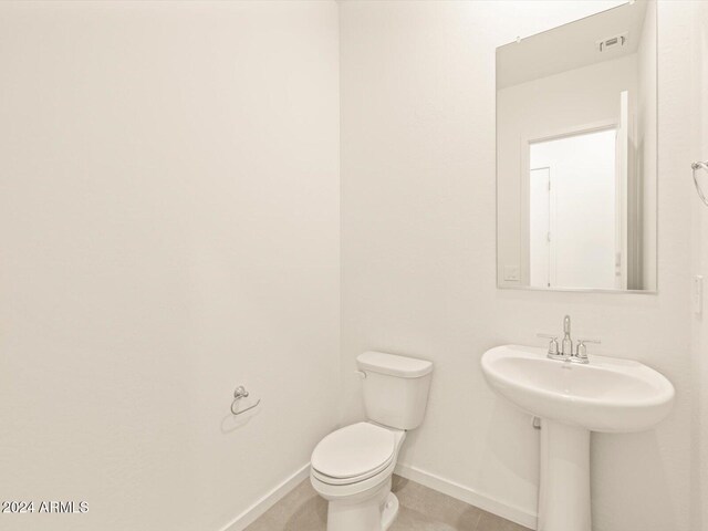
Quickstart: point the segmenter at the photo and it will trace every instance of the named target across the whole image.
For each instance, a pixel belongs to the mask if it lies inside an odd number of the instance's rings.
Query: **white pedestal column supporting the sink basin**
[[[590,430],[541,419],[538,531],[591,531]]]

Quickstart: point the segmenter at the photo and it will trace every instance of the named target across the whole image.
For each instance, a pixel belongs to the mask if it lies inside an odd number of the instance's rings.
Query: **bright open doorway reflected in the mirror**
[[[608,127],[529,144],[532,287],[622,285],[616,139]]]

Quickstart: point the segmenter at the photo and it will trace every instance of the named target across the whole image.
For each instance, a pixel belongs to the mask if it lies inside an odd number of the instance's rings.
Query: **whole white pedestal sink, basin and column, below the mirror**
[[[539,531],[591,531],[590,433],[648,429],[668,415],[674,386],[638,362],[549,360],[545,348],[504,345],[482,355],[489,385],[541,418]]]

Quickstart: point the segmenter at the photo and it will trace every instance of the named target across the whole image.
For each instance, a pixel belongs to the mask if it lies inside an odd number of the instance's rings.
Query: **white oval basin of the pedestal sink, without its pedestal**
[[[674,386],[646,365],[605,356],[581,365],[545,354],[498,346],[483,354],[482,371],[497,393],[523,410],[591,431],[641,431],[671,409]]]

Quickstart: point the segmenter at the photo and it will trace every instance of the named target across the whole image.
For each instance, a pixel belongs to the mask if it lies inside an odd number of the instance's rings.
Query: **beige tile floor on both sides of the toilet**
[[[529,531],[399,476],[393,491],[400,511],[389,531]],[[326,514],[326,502],[308,478],[246,531],[325,531]]]

